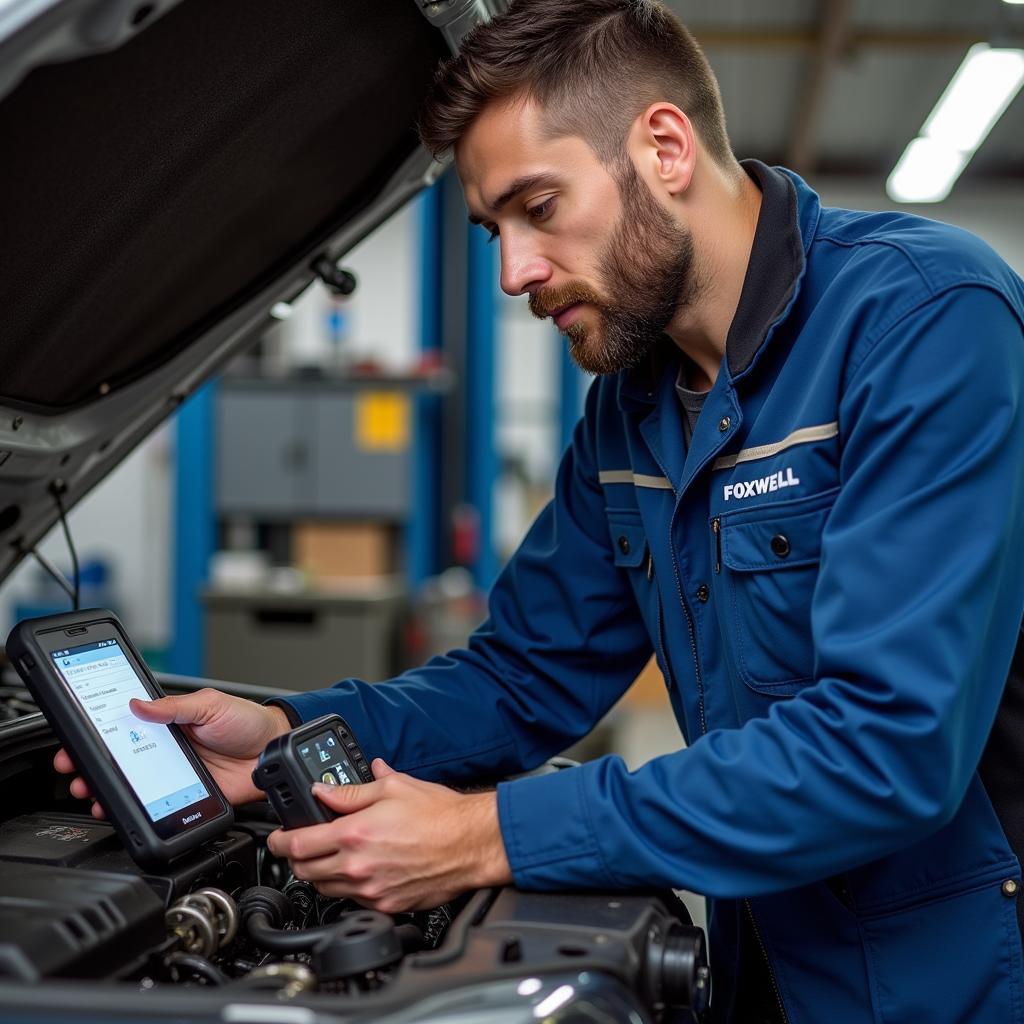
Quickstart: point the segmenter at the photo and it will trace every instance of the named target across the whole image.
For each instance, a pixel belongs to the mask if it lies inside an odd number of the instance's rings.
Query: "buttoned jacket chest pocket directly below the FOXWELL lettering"
[[[713,523],[726,646],[740,679],[758,692],[796,693],[814,678],[811,601],[838,490],[730,512]]]

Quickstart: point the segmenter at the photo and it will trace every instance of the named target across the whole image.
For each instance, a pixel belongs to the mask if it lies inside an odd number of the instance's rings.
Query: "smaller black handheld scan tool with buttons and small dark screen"
[[[338,815],[313,795],[313,782],[354,785],[373,772],[345,720],[325,715],[267,743],[253,772],[285,828],[323,824]]]

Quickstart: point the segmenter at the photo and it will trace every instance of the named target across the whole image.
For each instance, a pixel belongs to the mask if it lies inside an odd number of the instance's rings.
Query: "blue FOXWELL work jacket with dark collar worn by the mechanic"
[[[595,381],[468,649],[293,713],[424,778],[515,773],[653,651],[687,748],[499,785],[516,884],[706,894],[716,1020],[1024,1022],[1024,283],[744,167],[689,446],[673,346]]]

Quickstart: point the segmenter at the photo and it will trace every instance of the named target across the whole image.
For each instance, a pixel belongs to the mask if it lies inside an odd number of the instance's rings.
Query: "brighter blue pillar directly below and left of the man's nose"
[[[479,226],[470,225],[466,272],[466,501],[479,516],[480,550],[473,568],[478,587],[488,589],[498,575],[494,540],[494,490],[499,461],[495,421],[498,246],[487,245]]]

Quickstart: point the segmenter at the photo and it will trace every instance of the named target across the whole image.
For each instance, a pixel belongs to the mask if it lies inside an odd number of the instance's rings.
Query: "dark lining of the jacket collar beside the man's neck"
[[[759,160],[744,160],[742,168],[760,185],[762,200],[739,305],[725,342],[733,378],[754,361],[804,270],[796,187],[781,171]]]

